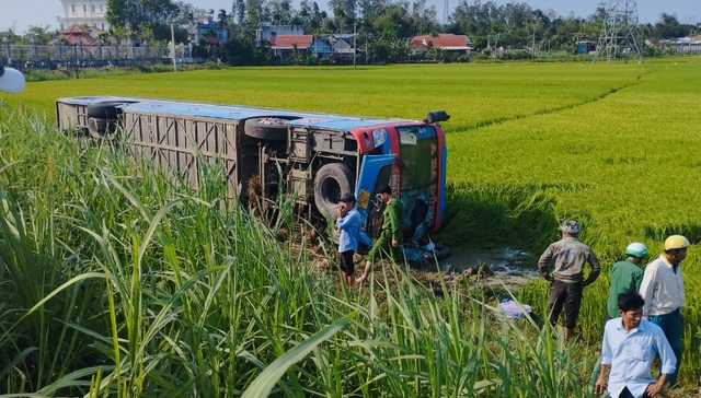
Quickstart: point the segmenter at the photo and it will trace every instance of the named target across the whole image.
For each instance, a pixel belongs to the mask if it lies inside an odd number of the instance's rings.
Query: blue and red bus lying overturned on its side
[[[446,142],[439,121],[330,115],[166,99],[81,96],[56,101],[59,128],[94,139],[126,134],[135,160],[148,159],[197,188],[198,162],[221,162],[231,197],[292,195],[310,218],[334,218],[355,194],[371,246],[377,190],[389,185],[404,204],[406,241],[441,226]],[[255,187],[254,190],[248,187]]]

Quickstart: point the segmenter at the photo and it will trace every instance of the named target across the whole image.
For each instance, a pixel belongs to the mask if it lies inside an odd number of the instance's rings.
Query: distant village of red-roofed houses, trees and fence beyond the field
[[[327,15],[315,3],[309,10],[289,11],[286,17],[267,10],[256,16],[258,21],[251,21],[252,15],[243,9],[238,14],[227,14],[225,10],[215,13],[185,3],[176,5],[170,0],[162,0],[163,4],[171,4],[180,15],[177,19],[143,10],[143,14],[157,16],[147,21],[148,25],[125,20],[125,28],[110,24],[108,0],[57,1],[62,4],[60,31],[34,26],[25,35],[0,32],[3,62],[18,68],[60,69],[171,61],[235,66],[468,62],[483,58],[559,60],[595,55],[604,46],[606,30],[604,9],[597,9],[598,16],[595,13],[578,21],[544,15],[526,3],[506,5],[513,10],[497,8],[493,2],[466,5],[468,9],[456,9],[445,24],[437,22],[435,8],[390,9],[384,10],[386,15],[393,15],[395,21],[387,21],[388,26],[382,26],[384,15],[375,21],[365,15],[359,21],[343,21],[338,15],[343,10],[334,9],[334,15]],[[490,7],[494,9],[489,10]],[[524,21],[514,19],[504,25],[505,32],[485,33],[479,28],[481,12],[499,21],[499,13],[518,16],[516,11]],[[666,25],[636,26],[639,43],[621,48],[620,56],[701,51],[698,32],[701,24],[683,25],[674,15],[662,15],[670,16],[673,20],[666,21]],[[564,33],[554,32],[555,26],[561,26]],[[470,34],[472,31],[474,35]],[[681,35],[685,32],[688,34]]]

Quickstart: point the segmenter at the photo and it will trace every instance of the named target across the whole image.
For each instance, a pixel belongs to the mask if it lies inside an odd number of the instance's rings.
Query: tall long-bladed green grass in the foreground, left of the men
[[[436,298],[387,265],[368,290],[346,291],[300,249],[304,236],[291,225],[280,244],[276,230],[220,199],[217,166],[191,191],[148,163],[137,173],[119,142],[35,129],[50,125],[4,104],[0,117],[5,394],[555,397],[584,388],[573,348],[549,328],[503,318],[469,284],[444,285],[449,294]],[[520,371],[533,363],[541,371]]]

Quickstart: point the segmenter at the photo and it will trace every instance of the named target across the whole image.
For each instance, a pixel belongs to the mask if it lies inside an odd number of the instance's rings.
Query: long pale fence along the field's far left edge
[[[2,37],[2,61],[16,69],[38,68],[59,69],[96,68],[96,67],[128,67],[137,63],[172,62],[170,46],[161,44],[135,45],[133,40],[124,45],[103,45],[97,42],[94,46],[78,42],[67,45],[56,42],[51,46],[39,46],[34,39],[30,45],[12,45],[7,37]],[[205,60],[192,57],[192,45],[175,46],[175,59],[179,63],[200,63]]]

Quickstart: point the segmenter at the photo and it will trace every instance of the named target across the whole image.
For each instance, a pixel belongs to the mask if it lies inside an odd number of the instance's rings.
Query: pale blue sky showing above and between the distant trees
[[[196,8],[200,9],[225,9],[227,12],[231,10],[232,0],[184,0]],[[460,0],[448,0],[449,13],[458,4]],[[473,0],[467,0],[472,3]],[[487,0],[482,0],[485,3]],[[567,16],[574,13],[574,16],[586,17],[591,15],[598,4],[608,0],[494,0],[497,4],[506,4],[508,2],[526,2],[532,9],[548,11],[552,9],[559,15]],[[76,0],[81,3],[81,0]],[[411,0],[410,0],[411,2]],[[299,4],[298,0],[294,3]],[[326,0],[317,0],[322,10],[326,9]],[[444,4],[445,0],[428,0],[428,4],[435,4],[437,8],[438,22],[444,22]],[[659,20],[659,15],[676,14],[680,23],[696,24],[701,22],[701,0],[637,0],[637,19],[641,23],[655,23]],[[0,32],[13,28],[19,34],[24,34],[32,25],[45,26],[51,28],[60,27],[57,17],[61,14],[60,0],[0,0]]]

